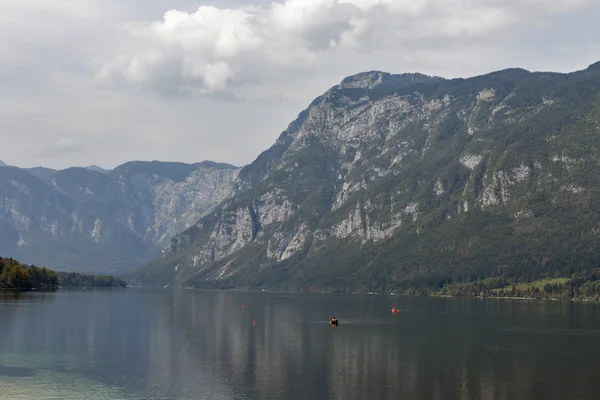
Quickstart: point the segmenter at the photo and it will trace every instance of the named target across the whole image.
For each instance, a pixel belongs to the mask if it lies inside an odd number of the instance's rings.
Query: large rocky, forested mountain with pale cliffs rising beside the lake
[[[600,63],[368,72],[318,97],[137,281],[406,291],[600,265]]]

